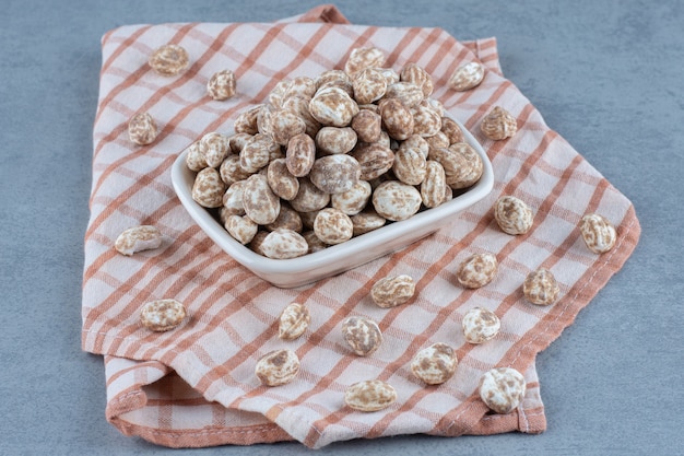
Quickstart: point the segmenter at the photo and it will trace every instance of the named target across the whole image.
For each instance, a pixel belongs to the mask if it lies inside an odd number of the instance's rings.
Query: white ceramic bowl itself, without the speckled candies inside
[[[172,182],[190,217],[226,254],[275,287],[295,288],[350,270],[405,247],[452,222],[458,212],[487,196],[494,185],[492,163],[473,136],[460,122],[459,126],[467,142],[482,156],[484,169],[477,184],[437,208],[424,210],[408,220],[390,223],[345,243],[298,258],[271,259],[256,254],[235,241],[220,221],[194,202],[191,190],[196,173],[186,166],[187,152],[182,152],[174,162]]]

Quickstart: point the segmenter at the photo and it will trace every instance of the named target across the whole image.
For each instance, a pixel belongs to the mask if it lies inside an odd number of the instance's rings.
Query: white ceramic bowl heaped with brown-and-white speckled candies
[[[232,131],[209,132],[178,155],[180,202],[227,255],[280,288],[455,223],[491,192],[492,163],[429,97],[421,71],[331,70],[279,84]]]

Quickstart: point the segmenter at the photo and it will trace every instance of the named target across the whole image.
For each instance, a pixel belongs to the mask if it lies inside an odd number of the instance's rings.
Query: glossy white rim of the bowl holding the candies
[[[447,113],[445,113],[445,115]],[[243,266],[250,269],[252,272],[258,270],[263,274],[293,274],[297,272],[310,271],[321,268],[322,266],[327,266],[332,261],[343,261],[354,255],[362,254],[370,248],[376,248],[378,243],[405,234],[406,230],[411,230],[411,227],[425,229],[426,226],[435,225],[434,231],[437,231],[440,226],[436,222],[441,221],[449,215],[457,214],[461,210],[474,204],[490,194],[494,187],[494,173],[490,157],[472,133],[468,131],[468,129],[460,121],[451,116],[449,117],[458,124],[463,131],[465,142],[469,143],[482,159],[483,172],[477,183],[469,187],[463,194],[455,197],[452,200],[439,204],[436,208],[417,212],[410,219],[392,222],[363,235],[355,236],[342,244],[333,245],[323,250],[306,254],[296,258],[274,259],[257,254],[233,238],[220,221],[217,221],[205,208],[192,199],[192,183],[197,173],[188,168],[186,165],[188,149],[181,151],[172,165],[172,184],[178,199],[193,221],[226,254]],[[231,136],[233,133],[232,130],[229,130],[224,135]]]

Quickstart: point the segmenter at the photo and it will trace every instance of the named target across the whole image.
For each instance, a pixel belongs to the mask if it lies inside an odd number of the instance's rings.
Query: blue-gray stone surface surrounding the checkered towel
[[[99,39],[135,23],[258,22],[316,1],[0,0],[0,454],[172,451],[104,417],[101,358],[80,350],[83,235]],[[320,454],[682,454],[684,2],[339,1],[350,21],[496,36],[505,74],[635,204],[633,257],[538,358],[540,435],[399,436]],[[174,451],[292,455],[296,443]]]

